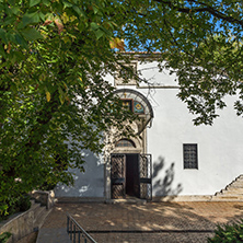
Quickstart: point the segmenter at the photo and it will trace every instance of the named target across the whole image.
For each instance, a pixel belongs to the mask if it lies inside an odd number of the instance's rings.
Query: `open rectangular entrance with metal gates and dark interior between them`
[[[152,198],[151,154],[112,154],[111,165],[113,199]]]

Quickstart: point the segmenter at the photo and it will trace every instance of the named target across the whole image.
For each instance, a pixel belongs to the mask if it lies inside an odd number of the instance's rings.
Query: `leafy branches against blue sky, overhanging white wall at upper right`
[[[242,2],[157,0],[140,8],[132,4],[132,23],[127,23],[123,38],[130,49],[161,51],[161,69],[176,73],[178,97],[197,115],[195,124],[211,125],[217,109],[225,106],[223,97],[238,92],[235,109],[242,115]],[[129,39],[132,34],[136,40]]]

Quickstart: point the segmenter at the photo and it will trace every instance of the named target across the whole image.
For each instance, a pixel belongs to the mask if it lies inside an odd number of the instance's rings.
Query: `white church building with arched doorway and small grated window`
[[[57,185],[56,197],[109,201],[206,198],[243,174],[243,120],[233,109],[235,97],[212,126],[194,126],[186,104],[178,100],[175,76],[159,72],[158,62],[131,61],[148,83],[124,83],[107,77],[116,94],[139,119],[137,136],[114,141],[108,155],[83,151],[85,172],[74,172],[74,186]],[[106,151],[107,153],[107,151]]]

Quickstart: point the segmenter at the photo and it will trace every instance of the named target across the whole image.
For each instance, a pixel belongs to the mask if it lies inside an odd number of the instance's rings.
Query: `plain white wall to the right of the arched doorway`
[[[148,67],[151,66],[148,65]],[[154,74],[155,85],[176,85],[169,72]],[[212,195],[243,173],[243,119],[233,111],[235,97],[227,97],[213,126],[194,126],[192,114],[176,89],[138,89],[150,101],[154,119],[148,129],[148,153],[153,157],[153,195]],[[183,169],[183,143],[198,144],[198,170]]]

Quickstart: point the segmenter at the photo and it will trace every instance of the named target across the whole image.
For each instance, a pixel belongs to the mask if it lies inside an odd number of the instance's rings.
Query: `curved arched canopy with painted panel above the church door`
[[[142,132],[153,118],[153,109],[148,99],[136,90],[119,89],[114,92],[120,100],[129,102],[131,111],[142,118],[138,134]]]

